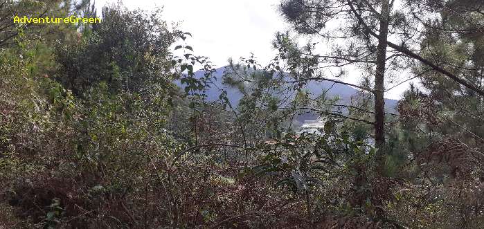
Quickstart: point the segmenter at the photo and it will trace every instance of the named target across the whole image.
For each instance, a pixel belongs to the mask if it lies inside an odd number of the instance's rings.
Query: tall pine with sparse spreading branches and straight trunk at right
[[[289,0],[280,4],[280,11],[293,25],[296,33],[309,35],[312,40],[302,48],[288,39],[288,35],[279,35],[276,40],[280,57],[287,59],[290,68],[302,81],[326,80],[324,74],[331,73],[335,68],[342,72],[341,68],[345,66],[360,68],[361,73],[373,78],[371,84],[359,88],[374,95],[373,129],[375,145],[379,148],[377,161],[380,172],[385,165],[386,152],[384,93],[391,75],[401,74],[405,68],[419,62],[427,66],[429,71],[445,75],[458,85],[484,95],[484,91],[475,82],[448,71],[435,59],[424,55],[425,49],[420,43],[425,35],[422,29],[435,28],[447,34],[481,29],[478,24],[469,23],[469,30],[454,30],[440,23],[445,21],[442,15],[433,17],[433,12],[447,12],[468,19],[480,12],[478,7],[461,8],[463,11],[458,13],[448,10],[456,2]],[[435,21],[440,22],[433,23]],[[322,42],[330,44],[332,48],[321,53],[318,44]],[[396,78],[397,81],[406,80]]]

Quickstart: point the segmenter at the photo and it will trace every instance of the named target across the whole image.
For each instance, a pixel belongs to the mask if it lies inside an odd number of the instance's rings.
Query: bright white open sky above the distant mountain
[[[100,9],[117,0],[96,0]],[[190,32],[187,39],[196,55],[210,58],[216,67],[225,66],[228,57],[234,60],[254,53],[262,66],[274,58],[271,42],[278,31],[289,28],[277,11],[280,0],[124,0],[129,9],[151,10],[163,7],[162,18],[168,23],[180,23],[179,28]],[[98,10],[99,12],[100,10]],[[342,79],[357,84],[359,77],[351,73]],[[391,85],[389,85],[391,86]],[[409,83],[397,86],[385,94],[400,99]]]

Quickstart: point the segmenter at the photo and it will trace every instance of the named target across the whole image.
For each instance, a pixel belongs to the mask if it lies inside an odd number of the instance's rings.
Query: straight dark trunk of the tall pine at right
[[[385,100],[384,100],[384,79],[386,68],[386,40],[388,38],[388,15],[389,15],[388,0],[382,0],[382,12],[380,28],[379,28],[379,42],[377,46],[377,68],[375,72],[375,145],[377,150],[377,172],[380,175],[384,172],[385,166]]]

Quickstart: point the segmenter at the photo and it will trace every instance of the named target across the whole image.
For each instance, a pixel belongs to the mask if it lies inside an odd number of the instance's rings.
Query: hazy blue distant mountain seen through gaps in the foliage
[[[210,85],[210,89],[206,92],[207,99],[209,101],[215,101],[219,99],[220,90],[224,89],[227,91],[228,100],[231,102],[233,107],[237,107],[239,100],[242,98],[242,93],[240,93],[237,89],[232,88],[231,86],[226,86],[222,84],[222,75],[224,73],[224,67],[217,68],[217,72],[214,73],[217,80],[214,82],[213,85]],[[201,77],[204,75],[204,71],[197,71],[195,72],[197,77]],[[180,82],[177,81],[176,84],[181,86]],[[334,96],[339,95],[341,98],[342,103],[348,103],[350,101],[350,97],[357,93],[357,89],[352,88],[351,86],[344,85],[344,84],[334,84],[332,82],[323,81],[323,82],[315,82],[311,81],[307,84],[306,89],[309,89],[313,95],[321,95],[324,91],[328,91],[328,95]],[[385,99],[385,110],[387,112],[395,113],[397,100]],[[305,115],[299,116],[298,120],[314,120],[318,118],[315,114],[307,113]]]

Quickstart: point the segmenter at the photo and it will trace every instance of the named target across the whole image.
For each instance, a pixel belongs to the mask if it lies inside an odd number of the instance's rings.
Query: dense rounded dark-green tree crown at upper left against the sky
[[[105,82],[111,93],[143,93],[171,84],[169,47],[174,33],[151,13],[123,6],[104,8],[102,23],[90,28],[75,45],[57,47],[60,71],[56,79],[77,96]]]

